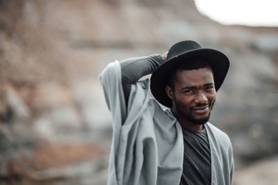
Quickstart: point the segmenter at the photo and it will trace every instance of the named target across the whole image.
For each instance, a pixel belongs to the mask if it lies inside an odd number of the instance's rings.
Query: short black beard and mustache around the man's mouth
[[[206,103],[206,104],[198,104],[195,107],[202,107],[208,105],[210,107],[210,111],[208,113],[208,116],[204,116],[202,118],[195,118],[191,112],[193,107],[190,107],[190,112],[189,114],[186,114],[186,112],[183,111],[183,105],[179,104],[176,100],[176,105],[177,105],[177,111],[181,116],[186,118],[186,120],[190,121],[190,123],[193,123],[194,125],[204,125],[204,123],[208,122],[210,116],[211,116],[211,110],[213,109],[213,105],[215,103],[215,100],[212,103]]]

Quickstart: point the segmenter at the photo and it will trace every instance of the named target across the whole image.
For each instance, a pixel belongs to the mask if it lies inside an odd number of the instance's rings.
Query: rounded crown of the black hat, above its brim
[[[200,46],[197,42],[194,42],[193,40],[178,42],[169,49],[167,59],[174,58],[177,55],[180,55],[181,53],[186,53],[187,51],[192,51],[195,49],[202,49],[202,46]]]

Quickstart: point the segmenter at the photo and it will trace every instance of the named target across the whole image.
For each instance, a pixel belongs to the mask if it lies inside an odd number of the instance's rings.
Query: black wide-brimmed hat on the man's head
[[[168,75],[179,64],[194,58],[204,58],[209,62],[213,70],[215,90],[218,91],[229,70],[229,59],[220,51],[203,49],[197,42],[186,40],[174,44],[167,54],[167,60],[152,73],[151,91],[159,103],[165,107],[172,106],[172,100],[165,91]]]

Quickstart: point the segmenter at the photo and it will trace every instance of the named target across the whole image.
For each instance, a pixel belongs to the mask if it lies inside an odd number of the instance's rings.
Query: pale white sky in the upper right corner
[[[221,24],[278,27],[278,0],[195,0],[202,14]]]

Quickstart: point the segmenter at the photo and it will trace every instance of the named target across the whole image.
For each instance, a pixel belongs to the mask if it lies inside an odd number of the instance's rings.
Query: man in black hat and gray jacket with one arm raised
[[[100,75],[113,116],[108,184],[231,184],[229,136],[208,123],[228,69],[226,55],[194,41],[109,64]]]

